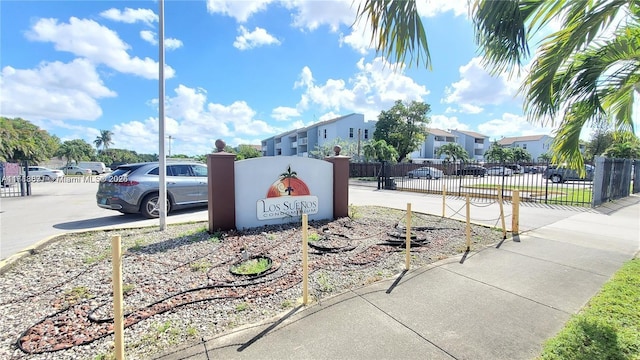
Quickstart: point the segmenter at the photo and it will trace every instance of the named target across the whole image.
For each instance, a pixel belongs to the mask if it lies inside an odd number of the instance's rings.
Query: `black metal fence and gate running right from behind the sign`
[[[431,176],[418,176],[429,167]],[[502,170],[507,168],[509,171]],[[518,190],[521,201],[572,206],[592,206],[593,171],[585,178],[569,176],[548,163],[426,163],[351,165],[351,177],[376,177],[378,188],[471,197],[493,201],[499,195],[510,200]],[[505,173],[506,176],[501,175]],[[435,175],[433,175],[435,174]],[[496,175],[492,175],[496,174]],[[552,175],[556,175],[555,177]],[[560,175],[560,176],[559,176]],[[574,174],[575,175],[575,174]]]

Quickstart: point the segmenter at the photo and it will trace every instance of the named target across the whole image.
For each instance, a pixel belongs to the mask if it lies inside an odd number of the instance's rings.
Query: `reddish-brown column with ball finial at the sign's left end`
[[[216,140],[218,152],[207,155],[209,187],[209,233],[236,228],[235,154],[224,152],[225,143]]]

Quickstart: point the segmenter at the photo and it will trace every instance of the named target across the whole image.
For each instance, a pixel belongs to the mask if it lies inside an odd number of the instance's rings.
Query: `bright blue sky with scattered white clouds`
[[[377,56],[367,27],[352,27],[352,0],[166,1],[172,153],[260,144],[354,112],[375,120],[395,100],[430,104],[434,128],[552,132],[526,122],[520,79],[483,69],[466,0],[421,5],[431,71]],[[110,130],[114,148],[158,153],[157,14],[156,1],[2,1],[0,114],[62,140]]]

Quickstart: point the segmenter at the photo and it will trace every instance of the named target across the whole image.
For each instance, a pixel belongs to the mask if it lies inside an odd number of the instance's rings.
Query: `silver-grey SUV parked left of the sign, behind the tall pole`
[[[159,216],[158,162],[120,165],[103,177],[96,201],[103,209],[122,213]],[[205,206],[208,200],[207,167],[193,162],[167,163],[167,213],[171,210]]]

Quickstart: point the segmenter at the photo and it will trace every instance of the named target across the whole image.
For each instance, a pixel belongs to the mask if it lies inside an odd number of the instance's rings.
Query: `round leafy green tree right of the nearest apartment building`
[[[418,149],[429,133],[427,125],[431,110],[429,104],[412,101],[405,105],[398,100],[389,110],[378,115],[373,139],[384,140],[398,152],[397,161],[404,160],[407,155]]]

